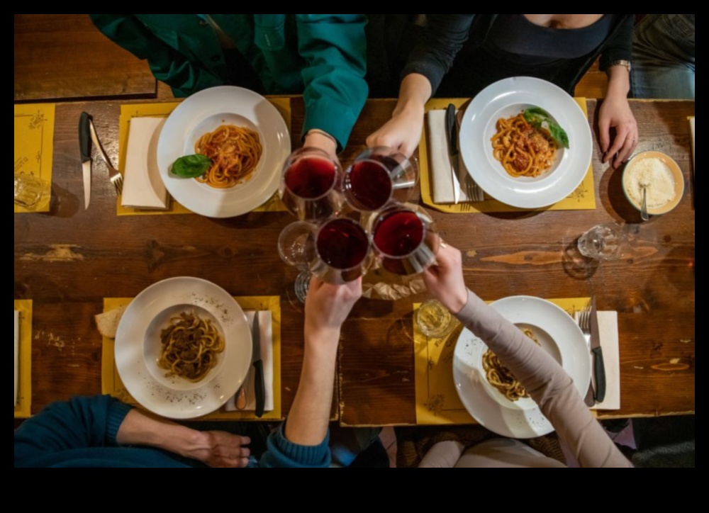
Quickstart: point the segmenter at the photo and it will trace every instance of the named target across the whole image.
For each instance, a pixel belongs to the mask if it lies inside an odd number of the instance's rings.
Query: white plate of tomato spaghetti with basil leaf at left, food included
[[[186,98],[165,121],[157,143],[160,176],[194,213],[230,218],[277,191],[291,153],[286,123],[263,96],[235,86]]]

